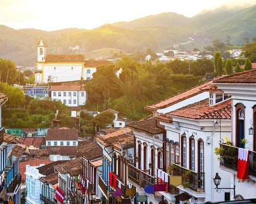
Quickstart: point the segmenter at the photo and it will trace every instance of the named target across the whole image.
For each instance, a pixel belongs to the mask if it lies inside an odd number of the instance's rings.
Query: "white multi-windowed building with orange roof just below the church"
[[[77,107],[86,104],[87,92],[81,85],[53,85],[50,88],[51,99],[60,100],[62,104]]]

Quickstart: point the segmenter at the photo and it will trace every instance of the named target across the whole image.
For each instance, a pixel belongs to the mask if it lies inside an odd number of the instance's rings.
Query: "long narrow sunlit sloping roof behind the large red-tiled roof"
[[[169,98],[161,100],[161,101],[157,102],[156,104],[146,106],[145,109],[148,111],[152,111],[152,110],[156,111],[158,109],[163,109],[163,108],[172,106],[182,100],[185,100],[187,98],[190,98],[192,96],[195,96],[195,95],[198,95],[198,94],[204,92],[204,90],[202,90],[202,89],[208,87],[211,84],[211,82],[212,81],[205,82],[205,83],[195,86],[191,89],[188,89],[186,91],[178,93],[174,96],[170,96]]]

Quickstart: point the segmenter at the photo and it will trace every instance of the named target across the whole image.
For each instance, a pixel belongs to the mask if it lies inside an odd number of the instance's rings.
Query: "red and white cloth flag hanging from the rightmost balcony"
[[[249,150],[244,148],[238,149],[238,179],[249,179]]]

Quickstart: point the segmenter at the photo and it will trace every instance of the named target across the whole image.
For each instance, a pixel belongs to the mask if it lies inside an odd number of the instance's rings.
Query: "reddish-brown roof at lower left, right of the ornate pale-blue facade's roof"
[[[55,169],[61,173],[69,173],[71,176],[82,174],[82,157],[70,160],[64,164],[58,164]]]

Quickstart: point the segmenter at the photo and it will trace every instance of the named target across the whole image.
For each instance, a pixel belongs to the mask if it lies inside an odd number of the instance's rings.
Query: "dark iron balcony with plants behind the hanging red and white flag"
[[[220,166],[238,170],[238,147],[220,144]],[[256,177],[256,152],[249,150],[249,176]]]

